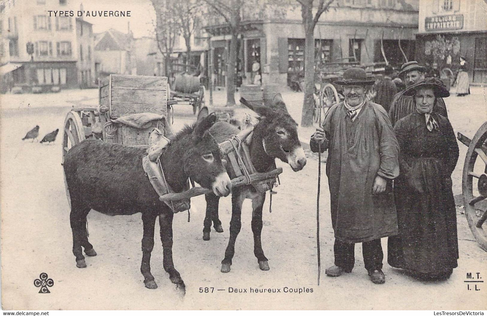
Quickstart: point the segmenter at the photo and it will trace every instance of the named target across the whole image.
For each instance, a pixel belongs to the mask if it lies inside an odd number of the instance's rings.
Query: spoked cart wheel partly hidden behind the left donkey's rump
[[[85,139],[83,123],[81,123],[81,118],[78,113],[71,111],[66,115],[63,125],[63,138],[62,138],[62,163],[66,158],[66,154],[75,144],[81,142]],[[64,171],[63,171],[64,175]],[[66,175],[64,175],[64,186],[66,187],[66,195],[68,197],[68,202],[71,207],[71,197],[68,191],[68,184],[66,182]]]

